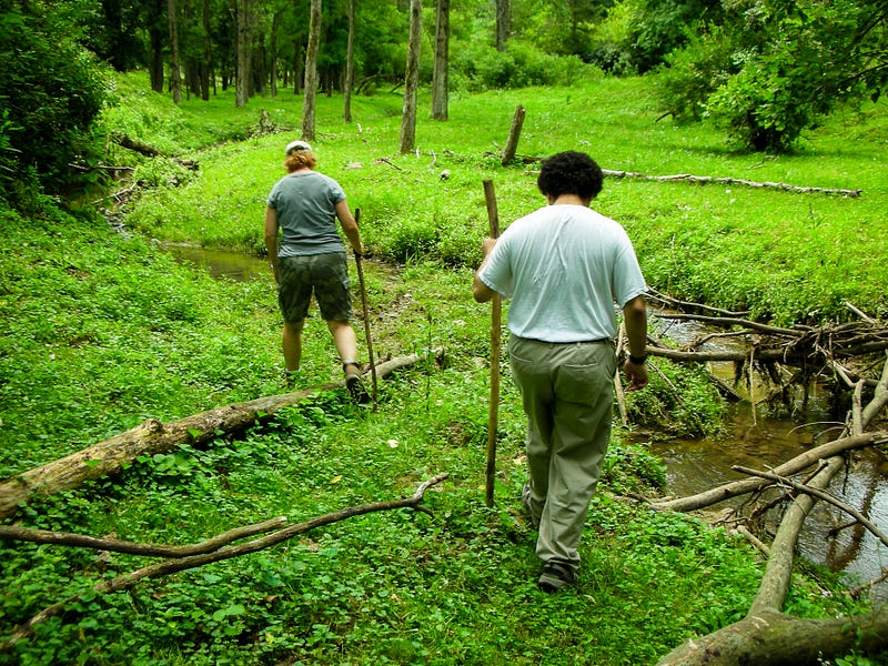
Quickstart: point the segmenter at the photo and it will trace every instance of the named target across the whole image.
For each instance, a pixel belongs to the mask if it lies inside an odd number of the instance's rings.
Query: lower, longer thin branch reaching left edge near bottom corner
[[[159,578],[161,576],[167,576],[170,574],[174,574],[176,572],[195,568],[199,566],[203,566],[205,564],[222,562],[224,559],[231,559],[232,557],[239,557],[241,555],[256,553],[259,551],[270,548],[271,546],[275,546],[280,543],[291,539],[296,535],[309,532],[310,529],[314,529],[315,527],[320,527],[322,525],[330,525],[331,523],[336,523],[339,521],[344,521],[346,518],[369,513],[374,513],[380,511],[391,511],[394,508],[404,508],[404,507],[411,507],[416,511],[422,511],[424,513],[431,513],[427,508],[420,506],[420,503],[423,501],[425,491],[427,491],[433,485],[443,482],[444,480],[447,478],[447,476],[448,476],[447,474],[438,474],[436,476],[433,476],[432,478],[420,485],[420,487],[416,488],[416,492],[410,497],[402,497],[400,500],[373,502],[370,504],[359,504],[355,506],[349,506],[337,512],[324,514],[321,516],[315,516],[307,521],[303,521],[302,523],[285,525],[280,529],[278,529],[276,532],[273,532],[264,537],[256,538],[254,541],[246,542],[243,544],[228,545],[229,542],[231,541],[228,537],[234,532],[238,532],[238,531],[232,531],[230,533],[225,533],[225,535],[221,535],[220,537],[210,539],[209,542],[204,542],[204,544],[214,545],[214,547],[210,552],[202,552],[193,555],[164,559],[162,562],[144,566],[129,574],[117,576],[115,578],[111,578],[109,581],[102,581],[101,583],[95,585],[92,588],[92,591],[95,594],[109,594],[112,592],[119,592],[121,589],[128,589],[133,585],[135,585],[139,581],[142,581],[143,578]],[[281,524],[281,521],[283,521],[284,523],[286,522],[285,518],[272,518],[271,521],[260,523],[259,526],[253,526],[252,532],[255,533],[255,529],[258,529],[259,527],[261,527],[262,532],[268,532],[269,527],[279,526]],[[251,528],[250,527],[240,528],[240,532],[241,532],[240,536],[244,536],[251,532]],[[84,545],[84,544],[78,544],[78,545]],[[200,546],[198,546],[198,549],[205,549],[205,548],[201,548]],[[58,602],[52,606],[44,608],[43,610],[34,615],[32,618],[30,618],[28,622],[17,627],[17,629],[6,640],[6,643],[0,645],[0,652],[7,652],[11,649],[16,645],[16,643],[21,640],[22,638],[31,636],[37,625],[44,623],[51,617],[60,615],[67,606],[69,606],[72,602],[79,599],[80,596],[81,596],[80,594],[75,594],[62,602]]]

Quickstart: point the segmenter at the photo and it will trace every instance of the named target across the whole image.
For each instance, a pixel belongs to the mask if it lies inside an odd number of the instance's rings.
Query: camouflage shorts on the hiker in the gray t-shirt
[[[325,321],[352,319],[352,281],[344,252],[282,256],[278,260],[278,303],[289,324],[305,319],[312,293]]]

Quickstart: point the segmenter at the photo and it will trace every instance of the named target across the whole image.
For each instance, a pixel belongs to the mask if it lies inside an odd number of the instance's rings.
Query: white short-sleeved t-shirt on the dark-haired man
[[[508,330],[544,342],[617,333],[623,307],[647,291],[626,231],[578,204],[547,205],[513,222],[478,278],[511,297]]]

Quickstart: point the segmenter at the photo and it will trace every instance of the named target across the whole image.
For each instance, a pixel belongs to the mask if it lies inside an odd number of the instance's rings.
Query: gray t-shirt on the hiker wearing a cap
[[[316,171],[290,173],[278,181],[266,201],[278,211],[282,230],[278,256],[344,252],[335,211],[344,199],[340,184]]]

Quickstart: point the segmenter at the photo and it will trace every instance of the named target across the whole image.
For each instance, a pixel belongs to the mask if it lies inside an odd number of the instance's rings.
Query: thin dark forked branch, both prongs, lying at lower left
[[[100,548],[103,551],[114,551],[118,553],[137,553],[142,555],[160,555],[168,557],[168,559],[144,566],[129,574],[123,574],[122,576],[117,576],[115,578],[102,581],[92,588],[92,591],[97,594],[108,594],[112,592],[119,592],[121,589],[128,589],[143,578],[159,578],[161,576],[167,576],[189,568],[195,568],[205,564],[222,562],[224,559],[231,559],[232,557],[256,553],[291,539],[296,535],[309,532],[310,529],[314,529],[315,527],[330,525],[331,523],[336,523],[354,516],[405,507],[411,507],[424,513],[431,513],[427,508],[420,506],[420,503],[423,501],[425,491],[446,478],[447,474],[438,474],[430,478],[428,481],[424,482],[410,497],[350,506],[337,512],[316,516],[307,521],[303,521],[302,523],[295,523],[292,525],[287,525],[286,518],[284,517],[273,518],[256,525],[250,525],[226,532],[225,534],[214,537],[208,542],[203,542],[202,544],[183,546],[180,548],[171,546],[132,544],[117,542],[113,539],[91,539],[91,537],[84,537],[82,535],[65,535],[59,533],[46,533],[42,531],[19,529],[19,532],[14,534],[2,532],[0,533],[0,538],[22,538],[23,536],[27,536],[28,538],[26,541],[32,541],[37,543],[52,543]],[[274,529],[274,532],[272,532],[272,529]],[[261,538],[256,538],[246,543],[231,545],[231,543],[238,538],[264,534],[266,532],[271,532],[271,534],[266,534]],[[13,632],[7,642],[0,645],[0,650],[9,650],[19,640],[32,635],[37,625],[51,617],[60,615],[67,606],[78,598],[80,598],[80,594],[53,604],[52,606],[49,606],[34,615],[28,622],[17,627],[16,632]]]

